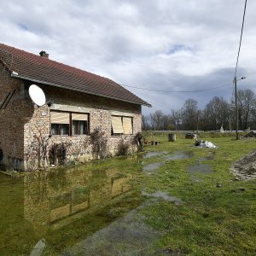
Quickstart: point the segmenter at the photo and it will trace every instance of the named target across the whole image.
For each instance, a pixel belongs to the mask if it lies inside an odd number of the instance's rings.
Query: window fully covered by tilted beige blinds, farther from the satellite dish
[[[112,135],[132,134],[132,118],[124,116],[111,117],[112,119]]]

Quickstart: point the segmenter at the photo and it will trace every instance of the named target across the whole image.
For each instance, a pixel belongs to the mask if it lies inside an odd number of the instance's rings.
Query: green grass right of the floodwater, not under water
[[[204,134],[204,140],[219,147],[211,149],[194,147],[194,141],[184,139],[183,135],[178,135],[175,143],[167,142],[166,134],[144,136],[148,141],[160,141],[158,146],[146,145],[147,152],[193,152],[193,157],[166,161],[152,176],[142,175],[137,180],[139,188],[148,193],[165,191],[183,201],[181,206],[159,201],[143,208],[147,224],[164,234],[158,245],[174,254],[255,255],[256,182],[234,181],[230,166],[255,150],[256,141]],[[206,160],[210,155],[213,157]],[[147,160],[149,163],[160,158]],[[211,166],[212,173],[196,173],[198,180],[193,180],[189,166],[198,165],[199,160]]]

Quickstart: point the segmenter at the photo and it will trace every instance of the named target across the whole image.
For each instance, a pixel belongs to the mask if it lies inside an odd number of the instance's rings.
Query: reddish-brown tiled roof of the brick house
[[[17,79],[150,107],[148,102],[144,102],[113,80],[57,61],[51,61],[46,57],[34,55],[6,44],[0,44],[0,61],[9,69],[9,72],[13,72],[13,77]]]

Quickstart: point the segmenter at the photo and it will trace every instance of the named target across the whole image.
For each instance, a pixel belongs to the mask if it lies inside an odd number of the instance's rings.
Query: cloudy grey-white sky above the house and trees
[[[232,96],[243,0],[9,0],[0,9],[0,42],[54,61],[143,87],[131,90],[170,113],[193,98]],[[256,92],[256,1],[247,13],[239,89]],[[155,92],[151,90],[201,92]]]

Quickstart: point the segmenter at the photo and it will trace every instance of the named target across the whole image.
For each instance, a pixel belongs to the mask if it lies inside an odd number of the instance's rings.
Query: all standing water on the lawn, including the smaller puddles
[[[149,152],[143,172],[155,173],[167,161],[193,157],[190,151]],[[146,165],[146,160],[160,161]],[[188,172],[212,173],[198,160]],[[129,166],[125,159],[123,166]],[[140,161],[135,169],[140,172]],[[75,166],[7,177],[0,173],[0,255],[152,255],[162,234],[143,222],[139,210],[157,201],[183,205],[166,191],[133,191],[136,173],[125,168]],[[146,188],[145,188],[146,189]]]

